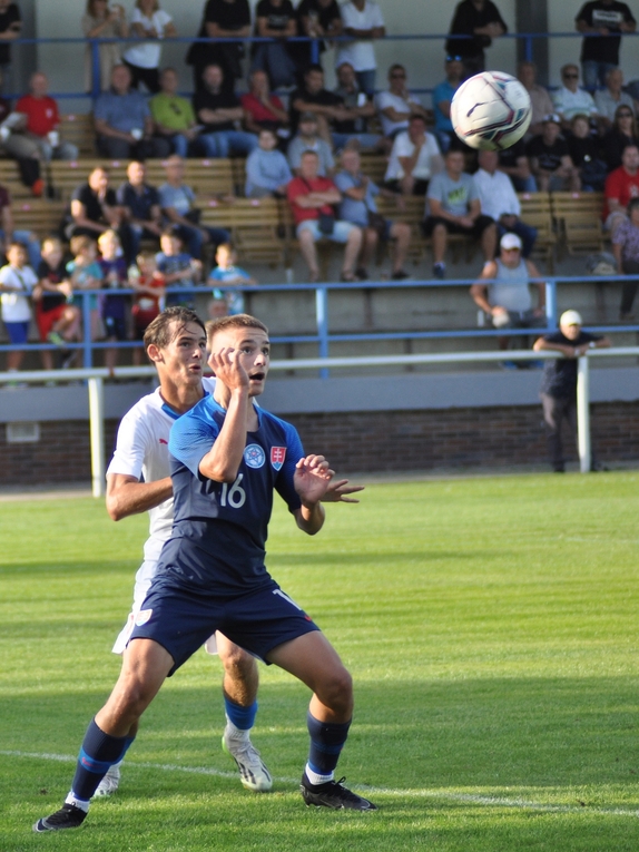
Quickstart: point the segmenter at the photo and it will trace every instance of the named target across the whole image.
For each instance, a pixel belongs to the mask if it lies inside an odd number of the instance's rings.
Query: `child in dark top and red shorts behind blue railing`
[[[80,340],[80,310],[71,304],[73,288],[68,280],[62,244],[56,237],[42,242],[42,258],[36,271],[38,284],[33,288],[36,322],[42,343],[60,347],[62,370],[75,361],[77,350],[66,349],[68,343]],[[53,369],[53,353],[41,350],[42,368]]]

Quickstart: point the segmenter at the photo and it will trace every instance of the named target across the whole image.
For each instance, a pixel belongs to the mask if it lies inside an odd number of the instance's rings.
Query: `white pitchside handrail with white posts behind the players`
[[[638,356],[639,346],[620,346],[617,349],[593,349],[578,359],[577,378],[577,421],[578,421],[578,447],[581,473],[588,473],[591,469],[590,449],[590,390],[589,390],[589,362],[591,358],[619,358]],[[514,350],[509,356],[518,361],[542,360],[550,361],[564,358],[560,352],[531,352],[530,350]],[[376,366],[376,365],[410,365],[410,364],[442,364],[478,361],[498,361],[503,359],[500,352],[452,352],[419,355],[375,355],[366,358],[331,358],[331,359],[297,359],[272,361],[271,370],[303,370],[317,369],[328,370],[338,366]],[[157,375],[153,366],[125,366],[116,368],[112,372],[101,370],[72,370],[46,372],[23,372],[20,380],[27,383],[46,381],[60,382],[73,379],[87,381],[89,393],[89,425],[91,442],[91,490],[94,497],[102,497],[105,493],[105,409],[104,409],[104,380],[107,378],[146,378]],[[16,373],[0,373],[0,383],[14,381]]]

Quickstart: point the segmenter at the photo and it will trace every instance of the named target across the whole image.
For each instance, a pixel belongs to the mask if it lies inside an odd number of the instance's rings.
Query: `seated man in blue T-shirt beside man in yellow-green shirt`
[[[111,71],[111,90],[100,95],[94,109],[98,150],[112,159],[166,157],[170,145],[154,137],[147,100],[130,86],[131,72],[125,65],[117,65]]]

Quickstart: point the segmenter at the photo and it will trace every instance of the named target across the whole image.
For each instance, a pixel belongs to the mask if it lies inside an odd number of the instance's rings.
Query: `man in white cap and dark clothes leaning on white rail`
[[[610,346],[608,337],[582,330],[583,321],[577,311],[564,311],[559,319],[559,331],[544,334],[534,343],[534,351],[552,350],[563,358],[547,361],[541,380],[541,404],[545,423],[545,440],[552,470],[566,472],[561,421],[567,420],[577,440],[577,359],[589,349]]]

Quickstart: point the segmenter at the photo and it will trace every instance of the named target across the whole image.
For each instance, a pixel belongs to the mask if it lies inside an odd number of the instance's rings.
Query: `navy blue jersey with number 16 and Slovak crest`
[[[235,482],[215,482],[199,472],[226,411],[213,396],[177,420],[169,438],[174,528],[158,565],[179,585],[237,594],[269,581],[264,566],[268,521],[276,490],[291,511],[301,507],[293,484],[304,457],[297,431],[264,409],[246,435]]]

